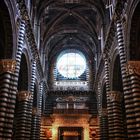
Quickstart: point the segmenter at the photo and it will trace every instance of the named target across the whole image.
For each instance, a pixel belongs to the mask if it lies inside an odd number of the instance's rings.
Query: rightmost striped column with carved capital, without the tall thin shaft
[[[128,135],[133,139],[140,139],[140,61],[128,61],[127,72],[131,87],[127,89],[129,96],[126,96]]]

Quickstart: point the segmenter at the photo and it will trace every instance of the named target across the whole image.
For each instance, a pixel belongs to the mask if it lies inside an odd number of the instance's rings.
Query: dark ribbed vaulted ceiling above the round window
[[[40,25],[40,52],[53,60],[62,50],[74,48],[92,61],[100,51],[99,37],[105,24],[102,0],[40,0],[36,24]]]

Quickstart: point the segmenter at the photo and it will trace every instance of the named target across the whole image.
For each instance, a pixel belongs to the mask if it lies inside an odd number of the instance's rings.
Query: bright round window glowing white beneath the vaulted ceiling
[[[78,78],[86,69],[86,60],[79,53],[65,53],[57,61],[58,72],[66,78]]]

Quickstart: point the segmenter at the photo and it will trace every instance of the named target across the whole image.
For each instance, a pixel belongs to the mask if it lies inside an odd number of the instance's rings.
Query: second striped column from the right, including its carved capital
[[[123,115],[122,115],[122,93],[119,91],[109,92],[108,104],[112,106],[112,111],[109,113],[111,140],[123,140],[125,138]]]

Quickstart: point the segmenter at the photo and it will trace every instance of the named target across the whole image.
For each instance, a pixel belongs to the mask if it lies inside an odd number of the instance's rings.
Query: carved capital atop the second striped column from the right
[[[108,93],[108,96],[111,102],[121,102],[122,100],[122,93],[120,91],[110,91]]]

